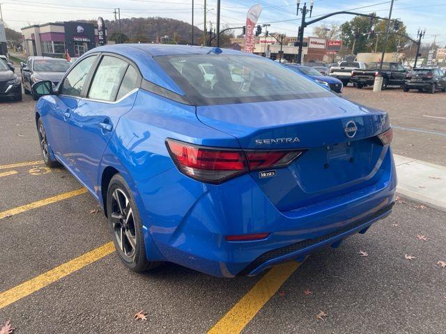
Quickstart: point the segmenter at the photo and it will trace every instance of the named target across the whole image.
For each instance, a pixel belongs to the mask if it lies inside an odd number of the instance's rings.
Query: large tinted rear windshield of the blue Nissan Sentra
[[[199,54],[155,59],[196,105],[333,96],[284,65],[261,57]]]

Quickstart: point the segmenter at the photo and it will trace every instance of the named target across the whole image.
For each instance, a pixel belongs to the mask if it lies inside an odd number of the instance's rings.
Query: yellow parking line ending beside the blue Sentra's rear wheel
[[[87,264],[91,264],[92,262],[98,261],[111,253],[114,252],[114,244],[113,242],[108,242],[107,244],[100,246],[91,250],[89,253],[85,253],[79,257],[76,257],[73,260],[70,260],[64,264],[61,264],[59,267],[51,269],[46,273],[43,273],[31,280],[28,280],[12,289],[6,290],[5,292],[0,293],[0,309],[15,303],[16,301],[29,296],[33,292],[36,292],[47,285],[50,285],[56,280],[60,280],[61,278],[68,276],[70,273],[73,273],[79,269],[82,269]]]

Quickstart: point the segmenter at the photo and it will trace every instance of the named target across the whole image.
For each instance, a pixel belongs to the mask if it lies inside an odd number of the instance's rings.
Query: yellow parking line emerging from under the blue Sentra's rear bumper
[[[243,331],[299,266],[298,262],[287,262],[270,269],[213,328],[210,328],[208,334],[235,334]]]

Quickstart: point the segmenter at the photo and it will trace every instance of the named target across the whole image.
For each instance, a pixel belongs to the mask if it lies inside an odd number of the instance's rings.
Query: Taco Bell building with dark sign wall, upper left
[[[98,29],[91,23],[46,23],[22,28],[26,56],[63,58],[82,56],[98,45]]]

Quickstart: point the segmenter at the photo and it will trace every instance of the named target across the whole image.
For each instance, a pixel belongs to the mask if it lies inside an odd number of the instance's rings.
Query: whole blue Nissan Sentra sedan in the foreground
[[[134,271],[254,276],[390,214],[387,113],[240,51],[109,45],[41,96],[43,159],[102,205]]]

